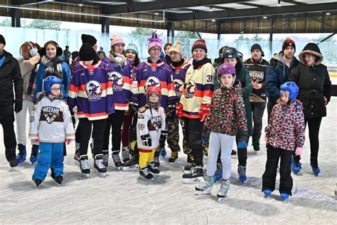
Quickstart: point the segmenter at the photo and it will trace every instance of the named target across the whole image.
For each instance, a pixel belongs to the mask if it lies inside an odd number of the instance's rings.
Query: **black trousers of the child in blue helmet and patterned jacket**
[[[274,191],[275,181],[277,175],[277,165],[279,159],[281,163],[279,165],[279,193],[290,194],[292,189],[291,178],[291,155],[293,151],[282,150],[280,148],[267,147],[267,163],[264,174],[262,175],[262,191],[269,189]]]

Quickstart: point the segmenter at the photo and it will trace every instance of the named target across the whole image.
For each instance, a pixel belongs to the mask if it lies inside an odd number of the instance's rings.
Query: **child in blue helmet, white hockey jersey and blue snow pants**
[[[34,169],[33,182],[40,185],[51,170],[51,177],[63,181],[63,147],[75,139],[73,122],[68,104],[62,100],[62,80],[55,75],[43,81],[44,95],[36,103],[30,118],[29,138],[39,143],[38,163]]]

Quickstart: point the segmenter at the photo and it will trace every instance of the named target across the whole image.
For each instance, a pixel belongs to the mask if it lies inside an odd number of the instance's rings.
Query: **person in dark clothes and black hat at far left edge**
[[[16,138],[14,132],[14,112],[22,110],[23,80],[18,61],[4,50],[6,41],[0,34],[0,120],[4,130],[6,159],[10,167],[16,167]],[[13,92],[15,90],[15,98]]]

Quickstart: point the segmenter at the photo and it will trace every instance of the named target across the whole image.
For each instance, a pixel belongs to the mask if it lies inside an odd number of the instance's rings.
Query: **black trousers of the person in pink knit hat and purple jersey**
[[[109,150],[109,137],[110,137],[110,127],[111,131],[111,140],[112,140],[112,150],[120,151],[121,148],[121,130],[124,120],[125,110],[115,110],[113,114],[110,114],[107,117],[105,122],[105,131],[104,131],[104,140],[103,140],[103,149]]]

